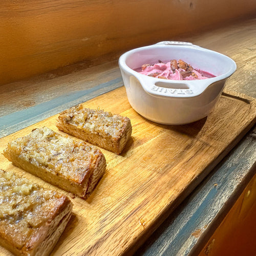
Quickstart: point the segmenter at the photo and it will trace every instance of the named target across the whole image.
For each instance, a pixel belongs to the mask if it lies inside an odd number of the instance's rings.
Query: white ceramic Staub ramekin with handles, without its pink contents
[[[216,77],[203,80],[167,80],[142,75],[134,69],[158,60],[182,59]],[[124,53],[119,58],[131,106],[143,117],[163,124],[185,124],[206,117],[220,97],[236,63],[229,57],[189,42],[163,41]]]

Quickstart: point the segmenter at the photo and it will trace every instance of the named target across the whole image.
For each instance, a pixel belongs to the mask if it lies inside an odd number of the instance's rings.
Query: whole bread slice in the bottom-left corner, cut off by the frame
[[[0,201],[0,245],[16,255],[49,255],[72,214],[66,196],[3,170]]]

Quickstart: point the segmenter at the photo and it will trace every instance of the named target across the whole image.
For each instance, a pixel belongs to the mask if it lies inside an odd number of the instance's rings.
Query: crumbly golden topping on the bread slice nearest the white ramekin
[[[113,138],[121,136],[126,123],[125,117],[103,110],[82,108],[81,104],[60,113],[59,119],[74,124],[85,132]]]

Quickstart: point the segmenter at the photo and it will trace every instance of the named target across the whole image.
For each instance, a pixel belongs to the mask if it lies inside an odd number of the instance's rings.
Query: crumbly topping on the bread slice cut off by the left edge
[[[55,191],[0,170],[0,235],[21,248],[35,230],[53,219],[62,202],[63,196]]]

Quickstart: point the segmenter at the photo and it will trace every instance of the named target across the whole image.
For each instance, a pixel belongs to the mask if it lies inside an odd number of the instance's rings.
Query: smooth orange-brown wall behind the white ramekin
[[[255,12],[255,0],[2,0],[0,85]]]

